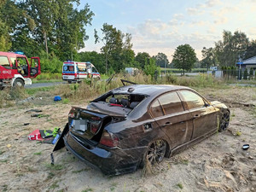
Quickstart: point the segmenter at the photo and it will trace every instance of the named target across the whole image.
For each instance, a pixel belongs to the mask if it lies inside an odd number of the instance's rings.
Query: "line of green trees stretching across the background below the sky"
[[[223,40],[215,47],[201,50],[201,61],[189,44],[179,45],[172,61],[168,61],[161,52],[154,56],[135,54],[131,34],[108,23],[94,33],[95,43],[103,44],[101,51],[79,52],[89,38],[86,26],[91,25],[94,16],[88,4],[78,9],[79,4],[79,0],[0,0],[0,50],[39,56],[43,72],[61,73],[62,62],[73,60],[90,61],[100,73],[137,67],[151,75],[159,67],[177,67],[184,73],[195,66],[235,66],[239,56],[246,59],[255,54],[255,40],[250,41],[244,32],[224,31]]]

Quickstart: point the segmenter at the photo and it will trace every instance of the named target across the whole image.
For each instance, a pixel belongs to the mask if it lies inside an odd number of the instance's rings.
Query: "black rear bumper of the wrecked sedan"
[[[145,148],[99,148],[80,143],[72,134],[63,138],[66,148],[79,160],[100,169],[105,175],[135,172],[140,165]]]

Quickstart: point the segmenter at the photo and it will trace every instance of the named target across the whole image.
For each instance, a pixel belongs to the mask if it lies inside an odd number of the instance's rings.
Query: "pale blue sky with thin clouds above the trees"
[[[131,33],[132,49],[149,55],[164,53],[172,61],[177,46],[189,44],[201,60],[203,47],[214,47],[223,31],[245,32],[256,39],[256,0],[80,0],[95,16],[86,26],[89,40],[80,51],[100,52],[94,29],[102,37],[103,23]]]

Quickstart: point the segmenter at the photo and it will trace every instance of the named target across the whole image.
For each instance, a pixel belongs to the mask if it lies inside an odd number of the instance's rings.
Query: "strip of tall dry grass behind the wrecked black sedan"
[[[18,89],[0,91],[0,108],[7,106],[10,101],[20,100],[29,95],[35,95],[38,91],[47,91],[48,96],[60,95],[62,99],[69,102],[88,101],[100,96],[108,90],[123,86],[120,79],[125,79],[136,84],[177,84],[193,88],[220,88],[224,86],[224,81],[213,78],[211,75],[201,74],[195,77],[177,77],[172,73],[165,77],[152,79],[150,75],[138,73],[136,76],[128,74],[117,74],[113,76],[111,82],[108,80],[85,79],[80,84],[59,84],[53,88]],[[41,94],[41,93],[40,93]]]

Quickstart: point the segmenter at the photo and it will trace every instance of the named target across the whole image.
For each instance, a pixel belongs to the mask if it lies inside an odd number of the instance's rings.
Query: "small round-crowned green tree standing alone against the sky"
[[[189,71],[194,66],[196,61],[195,49],[189,44],[179,45],[174,52],[172,62],[174,66],[183,69],[183,75],[186,71]]]

